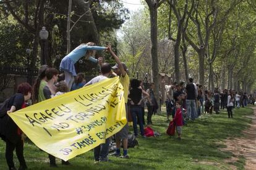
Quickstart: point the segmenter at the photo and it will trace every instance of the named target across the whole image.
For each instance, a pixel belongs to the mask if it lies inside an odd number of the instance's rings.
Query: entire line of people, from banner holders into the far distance
[[[98,60],[93,56],[96,51],[106,50],[116,61],[114,67],[110,67],[109,63],[103,62],[103,57]],[[92,80],[85,82],[85,75],[83,73],[76,73],[74,64],[85,57],[92,62],[98,62],[100,65],[100,75]],[[59,74],[60,71],[63,73]],[[134,135],[145,137],[144,126],[145,122],[145,106],[147,106],[147,124],[153,124],[152,116],[157,113],[158,102],[154,95],[153,89],[155,84],[150,83],[148,89],[144,89],[142,81],[138,79],[129,79],[127,67],[125,63],[119,60],[119,57],[113,52],[111,46],[98,47],[93,42],[81,44],[70,52],[61,61],[60,69],[50,68],[47,65],[42,65],[38,71],[38,78],[33,87],[28,83],[22,83],[17,89],[17,94],[7,99],[1,105],[1,110],[6,109],[7,113],[11,113],[21,108],[27,107],[26,103],[32,97],[32,103],[38,103],[43,100],[51,99],[57,95],[62,95],[69,91],[74,91],[90,84],[98,83],[113,76],[119,76],[122,86],[124,87],[124,99],[126,103],[126,117],[132,120],[132,127]],[[182,126],[190,119],[194,121],[202,113],[212,113],[214,110],[216,114],[220,113],[220,108],[227,108],[228,118],[233,118],[234,107],[244,107],[248,103],[254,104],[255,94],[235,92],[232,90],[224,90],[219,92],[215,89],[214,93],[211,91],[203,91],[201,85],[195,84],[193,79],[189,79],[186,85],[184,82],[173,83],[166,86],[166,117],[170,121],[172,116],[176,124],[178,139],[181,139]],[[204,109],[203,109],[204,108]],[[139,132],[137,129],[139,124]],[[116,150],[111,156],[120,158],[129,158],[128,145],[128,123],[117,132]],[[16,150],[17,158],[20,162],[19,169],[27,169],[27,164],[23,156],[23,141],[25,134],[12,121],[7,114],[0,113],[0,136],[6,142],[6,161],[9,169],[15,169],[13,161],[13,152]],[[109,161],[109,144],[111,138],[106,139],[105,144],[101,144],[94,148],[95,161]],[[122,144],[122,154],[121,154]],[[56,158],[53,155],[48,155],[49,164],[51,167],[57,167]],[[62,164],[69,165],[69,161],[63,161]]]

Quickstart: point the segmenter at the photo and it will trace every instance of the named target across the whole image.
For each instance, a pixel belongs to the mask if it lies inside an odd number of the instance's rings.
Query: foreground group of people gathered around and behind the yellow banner
[[[106,50],[116,60],[116,65],[110,67],[109,63],[103,63],[103,57],[95,59],[97,50]],[[92,62],[98,62],[100,65],[100,75],[93,78],[88,83],[85,82],[85,75],[83,73],[76,73],[74,63],[84,57]],[[59,74],[59,70],[63,73]],[[57,95],[62,95],[69,91],[74,91],[84,86],[100,82],[104,79],[113,76],[119,76],[120,82],[124,87],[124,99],[126,102],[129,93],[130,79],[127,75],[127,67],[119,60],[119,57],[113,52],[111,46],[98,47],[93,42],[87,44],[81,44],[70,52],[61,61],[60,69],[50,68],[48,65],[42,65],[38,71],[38,78],[31,86],[28,83],[19,84],[17,93],[12,95],[4,103],[1,103],[0,113],[0,137],[6,142],[6,161],[9,169],[16,169],[13,161],[13,152],[16,150],[16,155],[20,163],[19,169],[27,169],[27,164],[23,156],[23,142],[25,134],[19,129],[17,124],[8,116],[14,111],[20,110],[28,106],[28,100],[32,100],[32,103],[38,103],[43,100],[51,99]],[[112,71],[113,70],[113,71]],[[128,113],[128,111],[126,111]],[[121,158],[129,158],[127,151],[128,143],[128,124],[124,126],[121,131],[115,134],[116,136],[116,152],[114,156],[121,156],[121,144],[123,147],[123,154]],[[95,161],[108,161],[109,141],[106,139],[105,144],[101,144],[94,149]],[[53,155],[48,155],[49,165],[51,167],[57,167],[56,158]],[[69,161],[63,161],[62,164],[69,165]]]

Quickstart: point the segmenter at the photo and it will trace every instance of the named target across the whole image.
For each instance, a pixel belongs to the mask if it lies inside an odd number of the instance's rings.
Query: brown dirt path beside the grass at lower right
[[[227,163],[236,162],[239,156],[242,155],[246,160],[245,169],[256,169],[256,107],[254,107],[254,116],[247,118],[252,118],[252,124],[249,129],[244,131],[245,136],[233,140],[225,140],[225,145],[228,147],[223,148],[223,150],[234,154],[233,158],[226,160]]]

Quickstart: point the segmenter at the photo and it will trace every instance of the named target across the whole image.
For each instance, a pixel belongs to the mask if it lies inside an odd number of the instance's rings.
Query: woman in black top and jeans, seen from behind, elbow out
[[[140,82],[137,79],[132,79],[130,81],[130,94],[128,95],[130,99],[130,113],[132,114],[132,123],[134,127],[134,135],[138,136],[138,129],[137,129],[137,118],[139,120],[140,126],[140,134],[144,137],[144,128],[143,128],[143,121],[142,121],[142,107],[141,102],[142,100],[149,97],[147,92],[142,91],[140,88]],[[142,99],[142,94],[145,97]]]

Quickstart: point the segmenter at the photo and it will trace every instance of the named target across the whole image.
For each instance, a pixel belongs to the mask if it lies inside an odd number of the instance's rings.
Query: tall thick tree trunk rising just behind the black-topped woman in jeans
[[[157,6],[150,8],[150,36],[151,36],[151,65],[153,73],[153,82],[155,83],[154,94],[156,101],[160,103],[159,98],[159,68],[158,68],[158,39],[157,39]],[[160,106],[160,105],[159,105]]]

